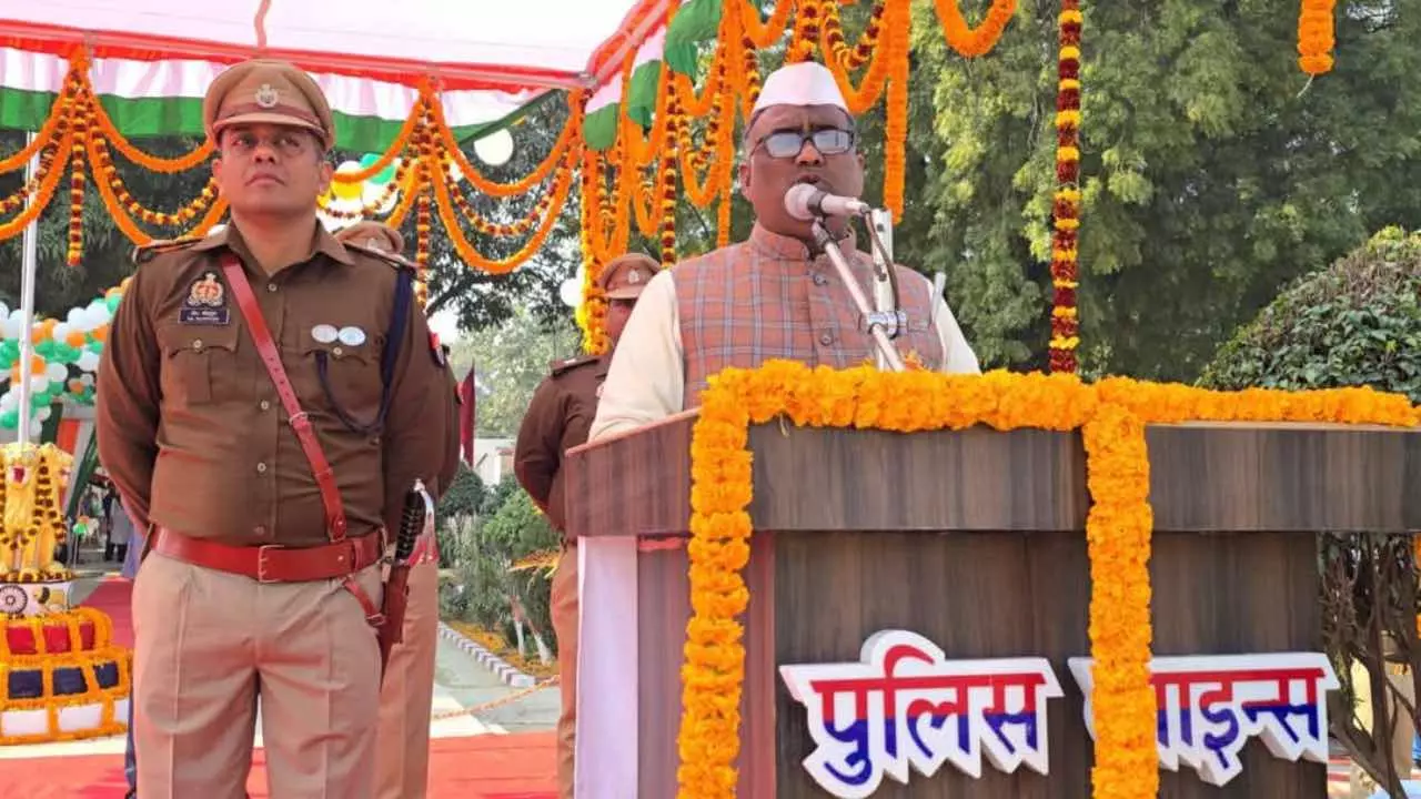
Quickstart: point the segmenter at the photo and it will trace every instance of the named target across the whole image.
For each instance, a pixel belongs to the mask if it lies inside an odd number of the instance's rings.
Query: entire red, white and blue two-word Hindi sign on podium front
[[[1069,667],[1094,736],[1091,663]],[[1327,655],[1165,657],[1150,668],[1165,769],[1225,785],[1255,736],[1275,758],[1327,762],[1327,691],[1339,687]],[[907,785],[909,769],[931,778],[944,763],[980,778],[983,758],[1006,773],[1049,772],[1047,699],[1064,694],[1046,658],[948,660],[917,633],[884,630],[858,661],[782,665],[780,677],[814,741],[804,769],[830,796],[864,799],[884,776]]]

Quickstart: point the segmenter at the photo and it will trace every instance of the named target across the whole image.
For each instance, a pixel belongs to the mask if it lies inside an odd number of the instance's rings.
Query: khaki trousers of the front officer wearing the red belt
[[[357,576],[381,601],[379,567]],[[379,647],[340,580],[257,583],[149,553],[134,583],[144,799],[243,799],[257,698],[271,799],[372,799]]]

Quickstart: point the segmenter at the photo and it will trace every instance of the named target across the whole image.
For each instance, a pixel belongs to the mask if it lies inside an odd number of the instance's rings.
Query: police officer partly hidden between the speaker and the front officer
[[[637,297],[659,264],[648,256],[628,253],[610,262],[600,276],[605,291],[607,336],[612,350],[621,338]],[[563,496],[563,454],[587,442],[597,417],[612,353],[571,358],[553,364],[533,394],[519,428],[513,471],[533,502],[547,513],[561,533],[563,556],[553,573],[551,614],[557,634],[557,663],[563,687],[563,714],[557,721],[557,782],[563,799],[573,796],[573,754],[577,734],[577,540],[566,537]]]

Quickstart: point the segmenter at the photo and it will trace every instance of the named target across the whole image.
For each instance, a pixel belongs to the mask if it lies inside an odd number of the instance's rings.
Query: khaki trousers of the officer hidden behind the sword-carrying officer
[[[389,651],[379,690],[378,799],[425,799],[429,790],[429,711],[439,645],[439,566],[409,570],[404,640]]]

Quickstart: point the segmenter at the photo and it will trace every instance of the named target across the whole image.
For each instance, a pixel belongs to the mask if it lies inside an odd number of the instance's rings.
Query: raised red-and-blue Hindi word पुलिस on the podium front
[[[780,667],[816,745],[804,768],[831,796],[871,796],[884,775],[907,783],[909,766],[982,776],[983,755],[1047,773],[1046,701],[1063,692],[1046,658],[946,660],[907,630],[875,633],[860,657]]]

